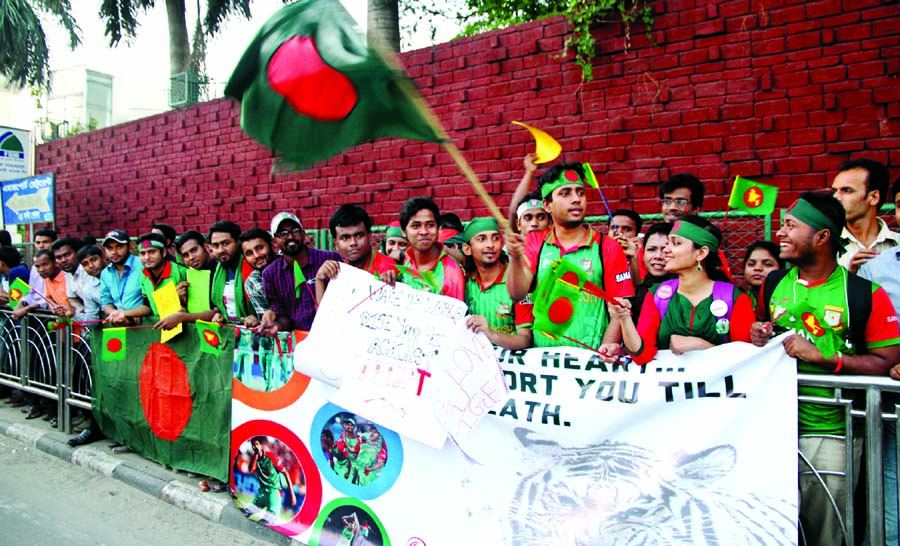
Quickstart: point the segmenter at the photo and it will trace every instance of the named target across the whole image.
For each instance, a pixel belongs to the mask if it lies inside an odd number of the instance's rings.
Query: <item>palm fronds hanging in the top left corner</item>
[[[68,0],[0,1],[0,74],[16,87],[48,87],[50,52],[38,12],[56,19],[69,35],[69,47],[81,43],[81,29]]]

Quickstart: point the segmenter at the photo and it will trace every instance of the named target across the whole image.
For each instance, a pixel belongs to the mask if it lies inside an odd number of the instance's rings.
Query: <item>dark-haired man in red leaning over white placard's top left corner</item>
[[[371,273],[391,286],[397,281],[397,264],[372,248],[372,218],[359,205],[341,205],[331,215],[328,230],[334,239],[334,249],[344,261]],[[328,281],[337,277],[340,265],[328,260],[316,273],[316,298],[321,301]]]

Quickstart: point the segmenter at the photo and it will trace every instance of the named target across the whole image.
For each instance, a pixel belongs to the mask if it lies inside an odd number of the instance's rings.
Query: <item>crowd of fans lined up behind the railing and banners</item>
[[[115,229],[95,241],[42,229],[34,235],[30,271],[5,234],[0,303],[8,303],[9,286],[20,278],[32,291],[15,305],[14,320],[47,309],[76,321],[149,321],[169,329],[204,320],[272,336],[308,330],[339,264],[347,264],[391,285],[399,281],[464,301],[467,325],[507,349],[572,346],[609,361],[629,355],[645,364],[658,350],[683,354],[732,341],[765,345],[792,332],[783,346],[801,372],[900,379],[894,311],[900,305],[900,234],[878,216],[891,190],[900,205],[900,179],[891,188],[883,164],[847,161],[831,191],[801,195],[785,213],[779,244],[760,240],[746,249],[746,286],[737,286],[723,259],[722,231],[699,216],[705,192],[697,177],[676,174],[661,184],[663,221],[644,230],[638,214],[618,209],[607,229],[597,230],[586,223],[582,165],[554,165],[535,185],[533,160],[525,158],[507,233],[494,218],[464,224],[454,213],[441,214],[422,196],[403,204],[380,246],[363,208],[339,207],[329,222],[334,251],[311,247],[290,212],[276,214],[268,231],[222,220],[205,233],[178,235],[156,224],[134,240]],[[187,310],[188,269],[209,274],[207,309]],[[167,284],[175,285],[183,308],[159,317],[152,294]],[[47,413],[36,399],[11,400],[31,403],[29,418]],[[843,410],[801,403],[799,419],[804,455],[820,471],[842,472]],[[99,437],[89,416],[81,425],[84,432],[72,445]],[[885,451],[895,455],[896,446]],[[838,499],[852,487],[837,476],[825,479]],[[895,472],[890,479],[886,513],[894,528],[888,536],[896,544]],[[834,511],[813,481],[801,479],[807,543],[840,544]]]

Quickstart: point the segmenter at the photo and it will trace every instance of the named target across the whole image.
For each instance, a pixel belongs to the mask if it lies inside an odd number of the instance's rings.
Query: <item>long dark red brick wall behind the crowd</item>
[[[590,161],[612,207],[658,212],[657,184],[692,172],[705,210],[721,210],[735,175],[777,184],[779,204],[822,188],[837,164],[872,157],[900,175],[900,3],[877,0],[665,0],[651,43],[599,29],[594,80],[559,60],[556,18],[403,55],[410,75],[501,207],[541,127],[563,159]],[[100,234],[153,221],[205,230],[229,218],[267,226],[295,210],[321,228],[355,202],[383,224],[403,200],[434,196],[463,219],[486,214],[437,145],[384,140],[320,167],[271,174],[273,157],[243,135],[227,100],[171,111],[38,148],[57,175],[62,232]],[[599,202],[589,211],[601,214]]]

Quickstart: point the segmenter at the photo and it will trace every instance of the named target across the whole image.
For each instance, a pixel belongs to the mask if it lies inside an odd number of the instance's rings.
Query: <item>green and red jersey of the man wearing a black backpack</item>
[[[900,330],[897,328],[897,314],[887,292],[872,283],[872,312],[866,321],[865,347],[855,347],[850,336],[850,309],[847,302],[847,277],[852,275],[843,266],[838,266],[827,279],[808,283],[799,278],[799,269],[791,269],[772,290],[769,309],[765,309],[762,298],[757,306],[760,319],[771,317],[772,322],[791,330],[812,342],[820,350],[829,342],[823,329],[828,328],[837,335],[842,353],[863,354],[871,349],[900,344]],[[765,290],[765,286],[763,290]],[[762,293],[762,292],[761,292]],[[768,315],[766,315],[768,311]],[[800,373],[830,373],[820,365],[797,360]],[[800,386],[800,396],[833,398],[834,389],[827,387]],[[844,434],[844,408],[801,402],[797,417],[801,434]]]

